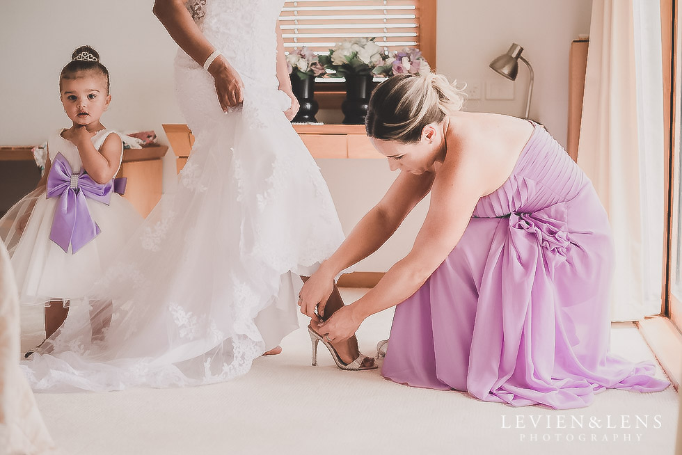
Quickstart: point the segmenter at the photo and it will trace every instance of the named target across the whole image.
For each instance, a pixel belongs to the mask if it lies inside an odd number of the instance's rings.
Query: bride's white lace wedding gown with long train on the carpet
[[[89,305],[22,362],[33,390],[225,381],[298,328],[299,275],[344,237],[319,168],[283,113],[290,99],[278,90],[275,33],[283,3],[190,2],[241,75],[243,107],[223,113],[212,77],[178,52],[177,95],[196,142],[177,192],[164,195]],[[113,310],[102,303],[110,300]],[[104,336],[90,329],[91,314],[95,327],[111,317]]]

